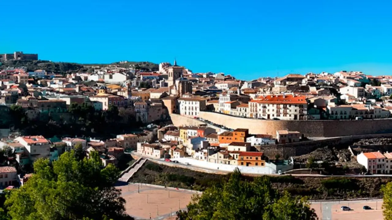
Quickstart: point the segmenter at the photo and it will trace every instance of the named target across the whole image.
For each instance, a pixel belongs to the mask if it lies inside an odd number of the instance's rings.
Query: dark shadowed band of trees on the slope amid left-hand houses
[[[92,105],[72,103],[66,113],[49,113],[37,120],[28,120],[21,106],[11,106],[10,121],[5,127],[13,127],[24,135],[44,137],[97,137],[113,138],[120,133],[138,131],[142,123],[136,122],[131,108],[109,106],[107,111],[96,111]]]

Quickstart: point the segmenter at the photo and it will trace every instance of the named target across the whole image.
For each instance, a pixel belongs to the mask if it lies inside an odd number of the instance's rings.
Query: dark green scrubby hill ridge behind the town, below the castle
[[[111,63],[111,64],[79,64],[66,62],[52,62],[45,60],[7,60],[3,61],[0,69],[7,67],[26,67],[27,71],[45,70],[47,72],[55,72],[58,74],[67,74],[74,72],[92,72],[93,67],[122,67],[140,69],[144,71],[157,71],[158,65],[151,62],[127,62],[127,63]]]

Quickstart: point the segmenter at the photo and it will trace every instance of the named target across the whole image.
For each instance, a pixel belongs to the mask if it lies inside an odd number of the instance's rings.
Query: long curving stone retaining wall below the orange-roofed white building
[[[276,136],[276,130],[299,131],[307,137],[340,137],[349,135],[365,135],[375,133],[392,133],[391,119],[375,120],[311,120],[283,121],[261,120],[233,117],[215,112],[200,112],[199,117],[221,124],[228,128],[247,128],[251,134],[270,134]],[[176,118],[175,120],[177,120]],[[192,119],[198,121],[196,119]],[[173,121],[173,120],[172,120]],[[176,123],[185,124],[187,119]],[[174,121],[173,121],[174,123]]]

